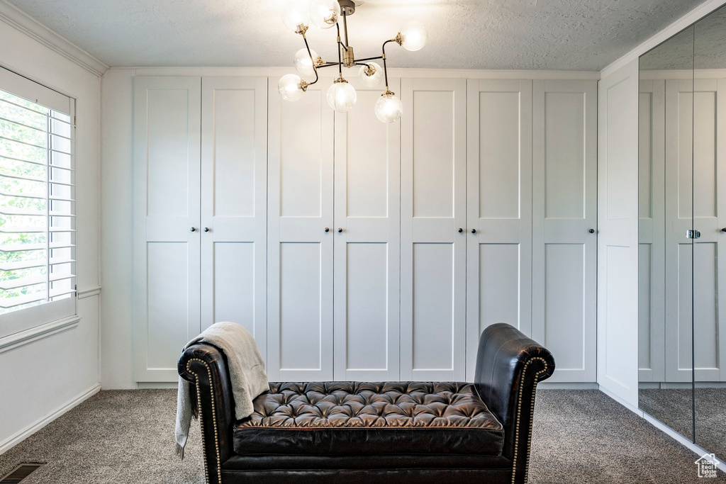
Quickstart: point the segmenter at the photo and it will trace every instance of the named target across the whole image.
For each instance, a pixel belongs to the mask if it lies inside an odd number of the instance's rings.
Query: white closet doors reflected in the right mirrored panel
[[[726,79],[696,79],[693,94],[693,333],[697,382],[726,380]]]

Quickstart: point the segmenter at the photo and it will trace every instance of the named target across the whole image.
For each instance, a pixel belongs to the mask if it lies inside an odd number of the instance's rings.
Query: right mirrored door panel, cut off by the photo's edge
[[[696,443],[726,458],[726,8],[694,25]],[[719,301],[721,304],[719,305]]]

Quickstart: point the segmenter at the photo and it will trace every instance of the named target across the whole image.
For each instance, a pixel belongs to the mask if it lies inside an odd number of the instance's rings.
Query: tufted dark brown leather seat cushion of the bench
[[[470,383],[270,383],[254,405],[234,424],[240,455],[499,456],[504,443],[502,424]]]

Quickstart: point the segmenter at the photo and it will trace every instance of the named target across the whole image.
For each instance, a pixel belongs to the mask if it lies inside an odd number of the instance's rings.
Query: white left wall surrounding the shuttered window
[[[76,98],[76,270],[81,316],[78,326],[68,331],[0,350],[1,453],[99,387],[101,83],[97,75],[7,22],[0,22],[0,46],[2,67]]]

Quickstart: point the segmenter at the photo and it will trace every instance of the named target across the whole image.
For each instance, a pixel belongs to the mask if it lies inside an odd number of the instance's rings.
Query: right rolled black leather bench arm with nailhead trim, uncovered
[[[505,427],[502,454],[513,461],[514,483],[526,483],[537,383],[552,376],[555,358],[546,348],[505,323],[484,329],[474,384]]]

